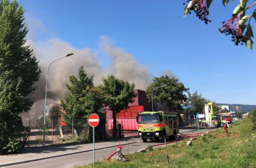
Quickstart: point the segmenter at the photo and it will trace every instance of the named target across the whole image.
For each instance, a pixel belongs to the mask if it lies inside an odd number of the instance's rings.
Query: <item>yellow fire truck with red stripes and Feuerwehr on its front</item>
[[[179,132],[177,113],[170,111],[143,112],[138,114],[138,133],[143,142],[147,139],[176,139]]]

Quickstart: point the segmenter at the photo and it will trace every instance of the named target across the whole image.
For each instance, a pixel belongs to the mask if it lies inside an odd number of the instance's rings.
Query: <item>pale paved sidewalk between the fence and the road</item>
[[[121,144],[133,144],[140,140],[124,139]],[[110,148],[118,146],[118,141],[108,141],[95,143],[95,150]],[[2,155],[0,156],[0,167],[10,166],[14,163],[26,163],[32,161],[38,161],[43,159],[49,159],[59,156],[73,155],[77,153],[83,153],[93,150],[93,144],[77,144],[71,146],[47,146],[45,148],[31,148],[26,149],[24,153],[15,155]]]

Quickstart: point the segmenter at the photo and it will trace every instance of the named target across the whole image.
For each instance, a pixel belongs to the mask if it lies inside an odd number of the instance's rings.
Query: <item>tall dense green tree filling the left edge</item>
[[[32,107],[29,95],[41,73],[32,49],[25,46],[28,30],[23,14],[16,0],[0,1],[0,154],[19,149],[15,140],[23,130],[19,114]]]

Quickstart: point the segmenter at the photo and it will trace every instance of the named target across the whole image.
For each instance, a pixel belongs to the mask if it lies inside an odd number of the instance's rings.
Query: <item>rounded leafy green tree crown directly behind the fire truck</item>
[[[166,102],[171,111],[182,109],[180,104],[187,99],[184,92],[187,92],[189,89],[186,88],[182,82],[179,82],[179,79],[169,78],[167,75],[153,79],[153,83],[150,84],[146,90],[147,98],[151,100],[152,90],[155,87],[165,84],[167,85],[166,87],[154,90],[153,100],[155,102]]]

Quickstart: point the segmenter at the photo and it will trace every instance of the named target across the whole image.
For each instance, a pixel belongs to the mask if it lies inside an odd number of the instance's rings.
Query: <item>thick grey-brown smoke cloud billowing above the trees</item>
[[[100,51],[107,54],[110,64],[104,70],[96,54],[92,54],[90,48],[78,49],[58,38],[51,38],[45,42],[33,42],[27,40],[27,45],[33,48],[33,54],[40,60],[42,74],[37,82],[38,90],[32,94],[34,100],[45,97],[46,71],[52,60],[64,54],[74,55],[54,62],[48,73],[47,98],[58,100],[67,93],[66,84],[70,74],[77,75],[79,66],[83,65],[88,75],[94,75],[95,84],[100,84],[102,77],[114,74],[118,78],[134,83],[136,89],[146,90],[152,82],[153,75],[147,66],[140,65],[131,54],[122,48],[116,47],[107,36],[100,37]]]

